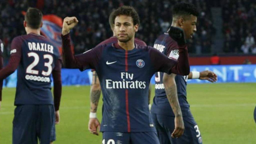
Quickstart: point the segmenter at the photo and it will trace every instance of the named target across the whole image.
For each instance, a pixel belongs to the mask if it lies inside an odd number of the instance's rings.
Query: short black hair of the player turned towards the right
[[[173,17],[175,16],[189,16],[194,15],[198,16],[199,12],[195,5],[190,3],[177,3],[173,7]]]

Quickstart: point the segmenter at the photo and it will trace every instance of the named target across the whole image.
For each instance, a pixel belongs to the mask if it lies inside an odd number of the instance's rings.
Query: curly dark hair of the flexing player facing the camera
[[[120,15],[132,17],[133,25],[140,25],[140,18],[135,9],[131,6],[121,6],[113,12],[112,24],[115,24],[115,18]]]

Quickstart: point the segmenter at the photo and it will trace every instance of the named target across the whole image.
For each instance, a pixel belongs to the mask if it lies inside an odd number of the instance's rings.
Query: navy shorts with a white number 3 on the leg
[[[151,114],[159,141],[161,144],[198,144],[202,143],[202,137],[199,128],[190,112],[188,116],[183,116],[184,133],[179,138],[172,138],[175,128],[174,116]]]

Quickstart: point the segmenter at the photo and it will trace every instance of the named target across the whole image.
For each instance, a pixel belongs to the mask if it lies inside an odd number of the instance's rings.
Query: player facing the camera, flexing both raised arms
[[[76,17],[64,19],[63,60],[67,68],[79,68],[81,71],[93,68],[98,74],[104,101],[100,127],[102,143],[159,144],[148,109],[150,79],[156,71],[188,75],[190,67],[186,45],[179,47],[178,61],[152,47],[134,45],[139,17],[134,8],[122,6],[114,11],[112,22],[118,42],[73,56],[69,32],[77,23]],[[172,37],[185,41],[182,30],[172,30]],[[176,133],[175,136],[180,135]]]

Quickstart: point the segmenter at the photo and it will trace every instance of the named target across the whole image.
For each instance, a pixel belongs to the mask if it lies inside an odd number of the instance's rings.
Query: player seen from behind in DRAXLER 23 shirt
[[[55,140],[55,123],[60,120],[60,54],[57,47],[40,35],[42,13],[38,9],[28,8],[24,27],[27,34],[12,40],[9,62],[0,70],[0,80],[3,80],[18,68],[13,143],[34,144],[39,139],[41,144],[49,144]]]

